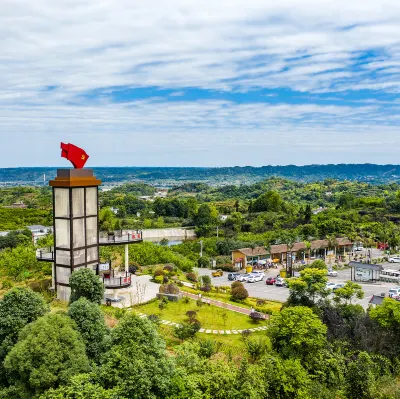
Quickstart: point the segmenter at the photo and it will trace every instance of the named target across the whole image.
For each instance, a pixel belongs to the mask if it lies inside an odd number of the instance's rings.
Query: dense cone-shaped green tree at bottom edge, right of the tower
[[[113,329],[111,343],[94,382],[130,399],[168,396],[174,363],[154,323],[127,314]]]

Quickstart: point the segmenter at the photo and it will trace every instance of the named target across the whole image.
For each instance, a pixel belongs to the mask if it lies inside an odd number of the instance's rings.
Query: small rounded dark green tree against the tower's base
[[[74,271],[69,278],[71,286],[70,303],[84,297],[100,305],[104,297],[104,285],[90,269]]]

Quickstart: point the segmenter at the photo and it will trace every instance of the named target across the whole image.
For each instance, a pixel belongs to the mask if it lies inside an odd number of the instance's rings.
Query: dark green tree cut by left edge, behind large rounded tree
[[[16,344],[19,332],[49,311],[44,299],[29,288],[13,288],[0,300],[0,360]]]

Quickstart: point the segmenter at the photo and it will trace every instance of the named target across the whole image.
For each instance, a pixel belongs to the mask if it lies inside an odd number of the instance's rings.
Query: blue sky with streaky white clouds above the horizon
[[[399,0],[2,0],[0,167],[398,164]]]

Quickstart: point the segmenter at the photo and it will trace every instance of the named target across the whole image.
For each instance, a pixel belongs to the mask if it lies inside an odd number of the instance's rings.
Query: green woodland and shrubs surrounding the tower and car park
[[[52,237],[34,246],[24,230],[28,220],[51,225],[51,192],[1,189],[2,206],[23,201],[28,207],[0,208],[1,223],[13,230],[0,237],[0,398],[400,398],[397,300],[386,298],[364,309],[354,304],[364,293],[353,282],[330,293],[322,261],[287,280],[285,303],[250,298],[237,282],[214,287],[194,269],[208,266],[211,258],[228,267],[236,248],[318,238],[347,236],[366,247],[381,242],[395,252],[400,245],[397,183],[274,177],[242,186],[183,183],[165,198],[139,198],[155,193],[143,183],[101,192],[100,228],[193,226],[198,239],[133,245],[130,266],[150,274],[160,292],[201,292],[254,307],[268,316],[266,324],[236,319],[267,328],[208,336],[199,330],[204,320],[212,320],[205,314],[213,306],[187,298],[177,304],[154,299],[128,309],[104,306],[104,287],[88,269],[71,276],[70,303],[58,301],[44,284],[49,264],[35,257],[36,249],[52,245]],[[112,259],[116,267],[123,256],[118,246],[101,250],[101,260]],[[183,285],[190,281],[192,291]],[[141,317],[145,309],[147,317]],[[160,322],[176,312],[181,325]],[[218,317],[222,325],[230,323],[226,314]]]

